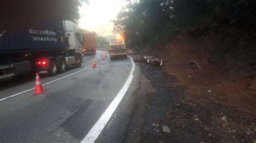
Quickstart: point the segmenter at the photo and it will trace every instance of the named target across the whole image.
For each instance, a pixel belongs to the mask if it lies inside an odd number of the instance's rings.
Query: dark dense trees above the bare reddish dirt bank
[[[123,33],[127,47],[136,50],[157,43],[161,48],[177,37],[215,38],[211,59],[221,62],[231,55],[255,71],[255,6],[253,0],[138,0],[119,12],[114,32]]]

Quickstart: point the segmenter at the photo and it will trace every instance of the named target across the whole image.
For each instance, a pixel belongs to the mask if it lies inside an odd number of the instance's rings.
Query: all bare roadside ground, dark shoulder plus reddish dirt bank
[[[124,141],[256,142],[256,75],[228,56],[225,64],[214,61],[212,39],[174,39],[161,51],[152,45],[137,53],[163,58],[165,66],[139,63],[140,98]]]

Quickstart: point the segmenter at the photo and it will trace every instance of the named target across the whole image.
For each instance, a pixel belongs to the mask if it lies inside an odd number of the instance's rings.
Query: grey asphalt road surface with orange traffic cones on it
[[[85,56],[82,67],[69,68],[56,76],[41,76],[42,84],[48,83],[43,86],[46,94],[33,95],[33,75],[2,81],[0,142],[82,141],[132,70],[130,58],[111,61],[107,57],[102,61],[101,54]],[[91,67],[93,58],[98,66],[95,69]],[[136,80],[132,79],[125,97],[135,90]]]

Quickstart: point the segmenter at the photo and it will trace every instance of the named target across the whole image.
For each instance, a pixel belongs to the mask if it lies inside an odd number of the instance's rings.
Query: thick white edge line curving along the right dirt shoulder
[[[128,57],[132,61],[132,58],[130,56]],[[98,138],[99,134],[102,132],[103,128],[105,127],[105,125],[107,124],[111,116],[113,115],[114,111],[117,109],[118,104],[122,101],[126,91],[128,90],[132,82],[134,69],[135,69],[135,65],[134,65],[134,62],[132,61],[132,70],[125,84],[123,85],[122,89],[118,92],[117,96],[113,99],[109,107],[105,110],[103,115],[100,116],[100,118],[95,123],[95,125],[91,128],[89,133],[87,133],[87,135],[84,137],[84,139],[82,140],[83,143],[95,142],[95,140]]]

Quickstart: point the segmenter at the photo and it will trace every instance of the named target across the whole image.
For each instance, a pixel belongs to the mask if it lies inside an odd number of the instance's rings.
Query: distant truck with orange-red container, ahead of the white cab
[[[87,54],[96,54],[95,33],[84,34],[83,52]]]

